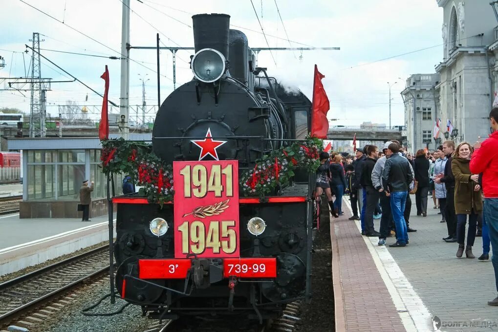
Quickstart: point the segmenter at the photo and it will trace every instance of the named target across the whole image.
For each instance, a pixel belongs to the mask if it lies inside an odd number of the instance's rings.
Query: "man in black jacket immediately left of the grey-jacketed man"
[[[367,207],[365,208],[365,235],[380,236],[373,228],[373,213],[379,199],[379,192],[375,190],[372,183],[372,171],[377,162],[377,147],[369,145],[367,147],[367,159],[363,164],[362,178],[360,179],[363,190],[367,191]]]

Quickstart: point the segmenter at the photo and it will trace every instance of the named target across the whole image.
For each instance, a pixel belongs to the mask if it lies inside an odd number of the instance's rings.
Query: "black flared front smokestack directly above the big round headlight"
[[[230,15],[198,14],[192,16],[195,52],[213,48],[228,59]]]

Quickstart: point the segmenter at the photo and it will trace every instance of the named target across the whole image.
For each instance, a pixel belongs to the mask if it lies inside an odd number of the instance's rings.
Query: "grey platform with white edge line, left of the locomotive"
[[[20,219],[0,216],[0,275],[72,253],[109,239],[108,216]]]

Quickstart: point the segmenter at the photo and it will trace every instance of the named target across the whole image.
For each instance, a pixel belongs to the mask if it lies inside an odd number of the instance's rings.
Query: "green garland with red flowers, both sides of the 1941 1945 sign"
[[[244,195],[264,197],[289,184],[294,169],[303,167],[316,171],[321,142],[307,137],[304,143],[296,142],[282,147],[271,155],[256,161],[253,169],[241,174]],[[109,174],[127,174],[140,186],[140,196],[163,204],[173,200],[172,166],[166,165],[152,152],[150,144],[125,141],[123,138],[102,142],[102,171]]]

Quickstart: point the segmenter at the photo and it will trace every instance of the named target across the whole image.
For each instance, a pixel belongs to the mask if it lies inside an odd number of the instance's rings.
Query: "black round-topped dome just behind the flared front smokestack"
[[[248,38],[244,32],[230,29],[230,75],[244,84],[248,82]]]

